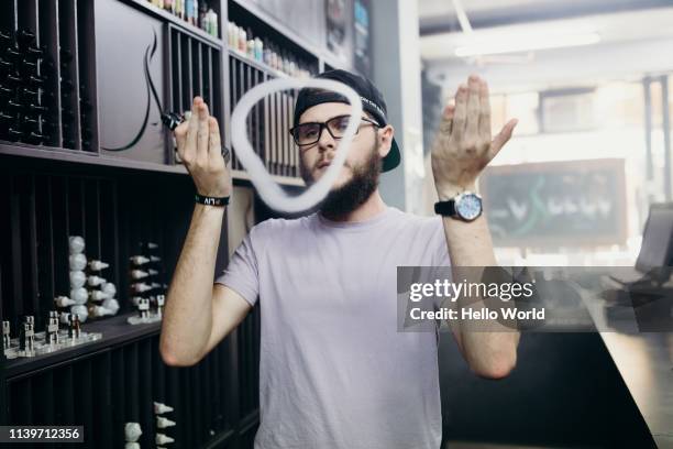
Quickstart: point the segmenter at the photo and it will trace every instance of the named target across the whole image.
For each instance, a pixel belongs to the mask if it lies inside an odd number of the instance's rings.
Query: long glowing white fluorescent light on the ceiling
[[[482,56],[497,55],[504,53],[531,52],[533,50],[564,48],[582,45],[592,45],[600,42],[598,33],[583,34],[543,34],[503,36],[497,40],[475,42],[474,44],[461,45],[455,48],[455,55]]]

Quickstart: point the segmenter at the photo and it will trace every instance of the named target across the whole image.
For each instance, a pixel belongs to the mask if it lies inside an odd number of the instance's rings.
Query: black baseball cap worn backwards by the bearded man
[[[386,101],[380,91],[369,79],[341,69],[323,72],[317,75],[316,78],[332,79],[349,86],[360,96],[363,110],[367,111],[380,127],[388,124],[386,118]],[[295,102],[295,125],[299,124],[299,117],[301,117],[307,109],[324,102],[345,102],[350,105],[347,98],[341,94],[306,87],[299,90],[297,95],[297,101]],[[382,169],[388,172],[395,168],[399,165],[400,160],[401,153],[399,146],[397,146],[397,142],[393,139],[390,152],[384,157]]]

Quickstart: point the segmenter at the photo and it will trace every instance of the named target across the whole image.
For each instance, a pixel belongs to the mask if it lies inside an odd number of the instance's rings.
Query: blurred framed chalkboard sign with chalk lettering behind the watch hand
[[[494,166],[479,179],[499,247],[577,247],[626,241],[624,160]]]

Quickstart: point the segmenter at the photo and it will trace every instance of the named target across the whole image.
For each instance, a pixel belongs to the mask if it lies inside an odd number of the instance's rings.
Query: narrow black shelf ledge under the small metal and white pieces
[[[5,360],[5,377],[13,381],[22,376],[33,375],[44,369],[52,370],[60,364],[73,363],[75,360],[93,355],[109,347],[158,333],[161,322],[129,325],[126,318],[133,315],[136,314],[130,313],[81,325],[81,330],[85,332],[101,332],[102,338],[100,340],[73,348],[65,348],[48,354]]]

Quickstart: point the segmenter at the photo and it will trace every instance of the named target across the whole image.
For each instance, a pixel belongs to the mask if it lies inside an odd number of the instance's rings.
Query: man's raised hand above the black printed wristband
[[[220,127],[208,113],[208,105],[195,97],[191,117],[174,131],[178,154],[194,179],[199,195],[227,197],[231,194],[231,173],[222,156]]]

